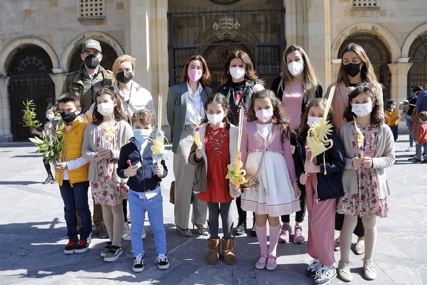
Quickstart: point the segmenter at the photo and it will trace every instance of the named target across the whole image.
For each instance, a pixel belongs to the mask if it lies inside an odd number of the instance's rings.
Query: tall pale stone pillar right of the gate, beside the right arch
[[[323,86],[332,83],[330,0],[304,1],[305,51]],[[325,88],[326,90],[326,88]]]

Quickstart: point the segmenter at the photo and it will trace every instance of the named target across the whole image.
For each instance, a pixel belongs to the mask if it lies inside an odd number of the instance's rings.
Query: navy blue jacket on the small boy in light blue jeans
[[[149,192],[157,189],[160,186],[161,178],[156,174],[156,163],[153,164],[153,152],[151,146],[153,142],[150,141],[147,146],[144,148],[142,153],[143,159],[141,160],[140,152],[133,142],[134,138],[130,139],[130,143],[125,144],[120,149],[120,157],[117,167],[117,175],[120,178],[126,178],[125,170],[130,166],[127,163],[128,159],[131,161],[132,165],[136,165],[138,162],[141,163],[142,167],[139,167],[136,175],[131,176],[128,179],[129,189],[135,192]],[[161,161],[163,165],[163,177],[167,175],[167,167],[164,163],[164,160]]]

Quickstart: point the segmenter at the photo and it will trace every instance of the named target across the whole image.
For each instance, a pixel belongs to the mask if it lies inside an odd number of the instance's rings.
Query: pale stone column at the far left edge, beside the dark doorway
[[[0,76],[0,142],[13,141],[10,99],[7,86],[10,77]]]

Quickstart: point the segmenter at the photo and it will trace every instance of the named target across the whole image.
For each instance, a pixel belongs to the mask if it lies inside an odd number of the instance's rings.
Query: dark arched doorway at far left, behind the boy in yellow
[[[49,73],[52,61],[41,47],[31,45],[20,47],[8,68],[12,108],[12,133],[15,141],[27,141],[31,135],[28,127],[22,125],[22,102],[33,100],[37,107],[37,117],[41,123],[46,121],[46,106],[55,102],[55,88]]]

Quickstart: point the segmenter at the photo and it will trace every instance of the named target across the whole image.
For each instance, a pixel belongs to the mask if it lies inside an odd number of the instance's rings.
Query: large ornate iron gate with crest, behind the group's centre
[[[181,82],[190,56],[202,55],[212,75],[213,91],[221,84],[224,62],[240,48],[252,59],[258,76],[269,88],[279,75],[284,51],[284,7],[282,0],[269,4],[234,4],[174,7],[169,23],[169,85]]]

